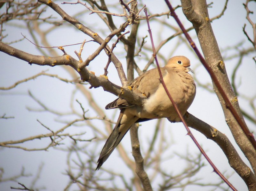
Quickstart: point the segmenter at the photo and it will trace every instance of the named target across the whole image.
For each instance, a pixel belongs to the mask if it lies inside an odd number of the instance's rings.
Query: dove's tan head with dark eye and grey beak
[[[190,71],[194,73],[194,71],[189,68],[190,61],[185,56],[173,56],[168,60],[166,66],[172,67],[172,68],[178,68],[178,69],[184,70],[185,72]]]

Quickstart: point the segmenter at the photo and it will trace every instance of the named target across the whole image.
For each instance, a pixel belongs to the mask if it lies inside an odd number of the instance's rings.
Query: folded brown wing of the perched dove
[[[163,77],[167,74],[165,68],[161,68],[161,72]],[[130,85],[132,87],[132,91],[136,93],[142,93],[147,98],[150,95],[154,94],[160,85],[160,76],[158,70],[152,69],[148,70],[144,74],[140,75],[139,77],[135,78]],[[124,98],[117,98],[116,100],[109,103],[105,109],[114,109],[114,108],[125,108],[125,107],[132,107],[133,104],[130,104]]]

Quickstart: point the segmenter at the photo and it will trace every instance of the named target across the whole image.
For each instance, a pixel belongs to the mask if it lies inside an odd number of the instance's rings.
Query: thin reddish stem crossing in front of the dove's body
[[[184,120],[183,116],[181,115],[176,103],[174,102],[174,100],[172,99],[172,96],[170,95],[170,92],[168,91],[165,83],[164,83],[164,79],[163,79],[163,76],[162,76],[162,73],[161,73],[161,70],[160,70],[160,67],[159,67],[159,64],[158,64],[158,60],[157,60],[157,57],[156,57],[156,49],[155,49],[155,46],[154,46],[154,42],[153,42],[153,37],[152,37],[152,33],[151,33],[151,29],[150,29],[150,26],[149,26],[149,21],[148,21],[148,13],[147,13],[147,9],[145,8],[144,9],[144,12],[146,14],[146,18],[147,18],[147,23],[148,23],[148,33],[149,33],[149,36],[150,36],[150,40],[151,40],[151,43],[152,43],[152,48],[153,48],[153,57],[155,58],[156,60],[156,65],[157,65],[157,69],[158,69],[158,72],[159,72],[159,75],[160,75],[160,81],[161,83],[163,84],[163,87],[164,87],[164,90],[165,92],[167,93],[168,97],[170,98],[171,102],[172,102],[172,105],[173,107],[175,108],[175,110],[177,111],[177,113],[179,114],[179,117],[182,121],[182,123],[184,124],[185,128],[187,129],[188,131],[188,134],[191,139],[194,141],[194,143],[196,144],[197,148],[201,151],[201,153],[204,155],[204,157],[206,158],[206,160],[210,163],[210,165],[212,166],[213,168],[213,171],[215,173],[217,173],[220,178],[226,182],[228,184],[228,186],[236,191],[236,188],[223,176],[223,174],[218,170],[218,168],[213,164],[213,162],[211,161],[211,159],[207,156],[207,154],[204,152],[203,148],[199,145],[199,143],[196,141],[196,138],[193,136],[193,134],[191,133],[191,131],[189,130],[188,128],[188,125],[186,123],[186,121]]]

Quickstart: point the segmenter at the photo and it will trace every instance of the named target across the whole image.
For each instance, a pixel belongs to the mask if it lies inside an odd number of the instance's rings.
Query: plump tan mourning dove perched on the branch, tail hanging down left
[[[189,71],[193,72],[193,70],[189,66],[190,61],[187,57],[174,56],[169,59],[166,66],[160,68],[164,83],[182,116],[186,113],[196,94],[194,79],[188,73]],[[108,159],[134,123],[163,117],[171,122],[180,121],[177,111],[160,82],[156,68],[135,78],[131,87],[133,92],[142,93],[146,99],[142,107],[129,104],[124,98],[118,98],[105,107],[106,109],[120,108],[121,111],[116,126],[100,153],[96,170],[99,170]]]

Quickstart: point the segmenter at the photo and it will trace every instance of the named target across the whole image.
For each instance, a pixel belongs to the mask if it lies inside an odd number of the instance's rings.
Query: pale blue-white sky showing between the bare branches
[[[210,3],[210,2],[208,2]],[[244,41],[243,47],[240,48],[247,48],[252,46],[242,31],[242,27],[244,23],[247,23],[247,30],[249,34],[252,34],[252,29],[248,22],[245,20],[246,12],[244,10],[243,4],[244,1],[236,1],[236,2],[229,2],[228,9],[225,12],[224,16],[220,19],[217,19],[212,22],[212,28],[215,34],[215,37],[218,41],[220,50],[222,55],[225,58],[232,55],[234,52],[227,52],[225,51],[228,47],[235,46],[238,42]],[[147,5],[148,10],[152,13],[161,13],[167,10],[167,7],[164,3],[159,3],[157,6],[155,5],[155,1],[149,0],[144,1],[143,4]],[[74,14],[75,11],[81,10],[82,7],[79,5],[61,5],[61,7],[69,14]],[[224,2],[222,1],[213,1],[211,5],[212,8],[209,8],[209,15],[210,18],[218,15]],[[72,6],[72,7],[71,7]],[[71,9],[73,6],[76,6],[76,9]],[[252,7],[255,7],[255,3],[252,2]],[[78,10],[77,10],[78,9]],[[251,8],[252,9],[252,8]],[[0,13],[4,11],[2,7],[0,9]],[[51,14],[51,12],[46,12],[44,14]],[[191,26],[191,24],[186,21],[185,16],[183,15],[181,9],[177,10],[177,14],[180,20],[184,23],[185,27]],[[57,15],[56,15],[57,17]],[[90,18],[87,20],[88,23],[96,23],[95,20],[97,15],[89,15],[87,13],[87,17]],[[256,20],[255,14],[252,16],[254,21]],[[84,18],[80,18],[84,19]],[[169,19],[168,21],[174,22],[173,19]],[[17,22],[17,21],[16,21]],[[138,35],[144,37],[148,34],[147,26],[141,24],[141,28],[138,31]],[[47,26],[46,26],[47,27]],[[97,26],[94,26],[97,29]],[[84,34],[79,33],[75,28],[71,27],[64,27],[60,28],[59,30],[53,31],[50,33],[49,38],[51,39],[51,43],[54,46],[60,46],[63,44],[73,44],[77,42],[81,42],[84,38],[89,39],[89,37],[85,37]],[[26,29],[19,29],[15,30],[13,26],[8,26],[6,28],[6,33],[8,33],[8,37],[5,39],[6,41],[17,40],[21,38],[20,33],[24,33],[24,35],[28,35]],[[170,31],[163,30],[162,27],[155,26],[155,23],[152,22],[152,33],[155,44],[159,43],[161,39],[165,39],[170,36]],[[159,36],[160,34],[160,36]],[[172,34],[172,33],[171,33]],[[196,34],[194,31],[189,32],[192,37],[195,37]],[[195,38],[194,38],[195,39]],[[161,54],[166,55],[165,59],[168,59],[170,55],[170,50],[175,47],[175,43],[177,41],[171,40],[168,42],[162,49]],[[199,45],[198,40],[195,39],[196,45]],[[147,39],[147,46],[150,45],[150,40]],[[23,51],[27,51],[30,54],[40,55],[41,53],[35,48],[35,46],[29,43],[26,40],[21,42],[12,44],[13,47],[18,48]],[[79,45],[75,47],[68,47],[65,50],[68,54],[76,57],[74,54],[74,50],[79,50]],[[89,47],[89,48],[88,48]],[[90,54],[93,52],[94,44],[90,46],[85,46],[84,52],[86,54]],[[238,48],[239,49],[239,48]],[[59,54],[62,53],[59,51]],[[85,54],[85,53],[84,53]],[[86,55],[85,54],[85,55]],[[85,56],[84,55],[84,56]],[[189,57],[191,61],[191,68],[195,71],[195,77],[203,83],[209,82],[211,83],[210,77],[204,68],[200,65],[199,60],[191,53],[186,46],[180,46],[174,50],[173,55],[186,55]],[[251,54],[252,55],[252,54]],[[118,53],[118,58],[121,62],[125,63],[124,54]],[[148,55],[150,57],[151,55]],[[252,57],[252,56],[251,56]],[[239,85],[239,92],[246,96],[255,96],[256,95],[256,88],[252,84],[256,84],[256,68],[255,62],[252,58],[244,58],[242,65],[239,67],[237,72],[237,79],[236,83]],[[143,60],[144,59],[144,60]],[[107,62],[107,57],[104,54],[100,54],[88,67],[89,70],[94,71],[95,75],[99,76],[104,73],[103,68]],[[146,56],[140,59],[140,66],[144,66],[147,63]],[[0,52],[0,64],[2,70],[0,70],[0,87],[7,87],[18,80],[33,76],[42,70],[48,70],[49,73],[58,74],[60,77],[70,79],[69,74],[61,67],[47,67],[47,66],[37,66],[37,65],[29,65],[27,62],[20,61],[17,58],[13,58],[9,55],[6,55]],[[225,61],[226,69],[228,72],[229,77],[232,75],[232,71],[235,67],[236,60],[227,60]],[[152,66],[153,67],[153,66]],[[143,68],[143,67],[142,67]],[[120,80],[117,77],[115,68],[111,65],[109,68],[109,80],[120,85]],[[64,88],[63,88],[64,87]],[[89,85],[86,85],[89,88]],[[54,116],[53,114],[49,114],[47,112],[31,112],[28,108],[39,108],[38,104],[28,96],[28,91],[30,91],[36,98],[43,100],[43,102],[57,110],[62,112],[70,112],[70,98],[72,97],[72,92],[74,91],[74,85],[72,84],[64,84],[57,79],[50,78],[50,77],[38,77],[35,80],[29,81],[27,83],[23,83],[18,85],[15,89],[10,91],[2,91],[0,90],[0,115],[6,114],[6,116],[14,116],[14,119],[0,119],[0,142],[9,141],[9,140],[19,140],[21,138],[25,138],[28,136],[34,136],[38,134],[47,133],[48,130],[43,128],[37,120],[41,121],[44,125],[51,127],[52,129],[59,129],[63,126],[62,123],[58,122],[58,120],[65,120],[61,117]],[[90,92],[93,95],[95,100],[100,100],[100,105],[102,108],[105,107],[106,104],[111,102],[112,100],[116,99],[116,96],[111,95],[108,92],[104,92],[102,88],[91,89]],[[84,97],[81,93],[75,94],[75,99],[78,99],[84,107],[89,107],[89,103],[87,100],[84,100]],[[244,110],[248,111],[250,114],[254,115],[252,109],[250,108],[249,104],[244,101],[241,97],[239,99],[240,107]],[[76,105],[76,109],[79,107]],[[215,94],[210,94],[208,91],[204,90],[203,88],[197,87],[196,98],[188,109],[188,111],[198,117],[199,119],[207,122],[208,124],[212,125],[216,129],[220,130],[226,136],[230,138],[232,143],[235,145],[236,149],[241,153],[238,146],[236,145],[228,126],[225,123],[225,118],[223,116],[223,112],[221,110],[220,103],[218,98]],[[114,112],[116,111],[107,111],[106,114],[109,118],[114,116]],[[95,114],[92,112],[89,115],[94,116]],[[254,115],[255,116],[255,115]],[[72,117],[71,117],[72,118]],[[115,118],[116,119],[116,118]],[[246,120],[247,125],[249,128],[255,132],[256,126],[250,123],[250,121]],[[97,123],[96,123],[97,124]],[[99,123],[102,124],[102,123]],[[148,147],[148,143],[150,140],[150,136],[154,131],[154,124],[152,121],[143,122],[142,126],[139,129],[140,135],[140,143],[142,149],[146,150]],[[198,150],[189,136],[186,136],[186,130],[182,127],[182,124],[169,124],[165,121],[165,132],[166,132],[166,139],[170,139],[173,142],[172,148],[169,148],[170,151],[173,153],[181,152],[182,154],[186,153],[186,150],[193,153],[194,156],[198,154]],[[73,127],[72,129],[68,130],[67,132],[83,132],[87,131],[87,129],[82,129],[81,127]],[[203,135],[196,132],[192,129],[192,133],[196,137],[197,141],[200,145],[203,146],[204,150],[207,152],[209,157],[212,159],[213,163],[219,168],[222,173],[231,175],[234,171],[228,165],[227,159],[224,157],[222,151],[214,142],[211,140],[207,140]],[[92,138],[93,134],[88,134],[86,138]],[[67,145],[70,144],[70,141],[65,142]],[[130,148],[130,137],[127,134],[122,143],[127,152],[131,152]],[[99,146],[97,149],[101,149],[102,145]],[[46,146],[46,142],[42,142],[41,140],[36,140],[32,142],[25,143],[25,146],[28,148],[34,147],[44,147]],[[115,170],[122,172],[123,169],[120,168],[122,163],[118,160],[118,154],[113,152],[104,166],[108,167],[113,164],[116,164]],[[242,155],[242,154],[241,154]],[[132,156],[131,156],[132,157]],[[18,149],[9,149],[9,148],[2,148],[0,149],[0,167],[4,169],[4,178],[11,177],[13,175],[18,174],[22,168],[24,167],[26,174],[33,174],[34,176],[30,176],[27,178],[20,178],[19,182],[24,183],[25,185],[30,185],[31,181],[35,177],[37,173],[38,167],[43,164],[43,170],[40,174],[40,180],[36,183],[37,187],[46,187],[46,190],[63,190],[68,182],[68,177],[64,175],[65,170],[67,168],[67,159],[66,154],[62,151],[56,149],[49,149],[49,151],[22,151]],[[242,155],[242,158],[249,165],[248,161]],[[184,165],[179,158],[173,157],[171,160],[171,172],[178,173],[180,168],[179,166]],[[206,161],[204,163],[207,163]],[[96,167],[96,166],[95,166]],[[169,168],[169,167],[168,167]],[[202,177],[204,181],[218,181],[219,177],[212,172],[212,168],[208,165],[202,170]],[[130,174],[127,175],[128,177],[131,176]],[[161,182],[161,178],[158,177],[159,182]],[[52,181],[54,180],[54,181]],[[236,175],[236,173],[232,174],[230,177],[230,182],[238,189],[238,190],[246,190],[247,187],[244,184],[243,180]],[[64,183],[63,183],[64,182]],[[18,187],[19,185],[15,182],[5,182],[0,183],[0,191],[10,190],[10,186]],[[153,188],[157,189],[157,181],[153,184]],[[76,187],[72,187],[70,190],[76,189]],[[189,187],[185,190],[205,190],[205,187]],[[206,188],[206,190],[210,190]]]

